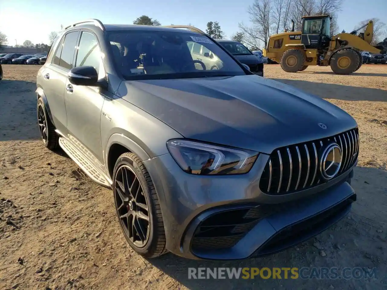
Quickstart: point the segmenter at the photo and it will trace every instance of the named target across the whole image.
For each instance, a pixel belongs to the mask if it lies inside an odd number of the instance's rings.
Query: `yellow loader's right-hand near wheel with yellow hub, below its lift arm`
[[[336,52],[330,60],[330,68],[337,75],[349,75],[359,67],[358,53],[353,49]]]

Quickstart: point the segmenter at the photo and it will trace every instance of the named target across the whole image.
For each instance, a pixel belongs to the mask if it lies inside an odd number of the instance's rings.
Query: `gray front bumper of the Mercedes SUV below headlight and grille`
[[[330,183],[282,196],[259,189],[268,156],[247,174],[197,176],[165,154],[144,161],[158,193],[167,249],[190,259],[244,259],[281,251],[351,210],[352,169]]]

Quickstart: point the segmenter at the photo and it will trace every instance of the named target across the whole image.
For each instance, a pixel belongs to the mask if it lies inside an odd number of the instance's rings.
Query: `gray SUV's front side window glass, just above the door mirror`
[[[75,67],[91,65],[97,72],[101,64],[101,51],[98,46],[98,39],[94,34],[82,31]]]

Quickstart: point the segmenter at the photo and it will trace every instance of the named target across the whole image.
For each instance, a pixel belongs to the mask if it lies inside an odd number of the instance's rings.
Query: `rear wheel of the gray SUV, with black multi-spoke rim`
[[[59,138],[57,132],[55,132],[55,126],[51,123],[50,118],[48,118],[46,107],[42,98],[38,99],[36,113],[38,116],[39,133],[43,143],[48,149],[55,150],[58,148]],[[41,114],[43,114],[43,116],[41,116]],[[42,128],[42,125],[46,128],[45,135],[43,134],[44,128]]]

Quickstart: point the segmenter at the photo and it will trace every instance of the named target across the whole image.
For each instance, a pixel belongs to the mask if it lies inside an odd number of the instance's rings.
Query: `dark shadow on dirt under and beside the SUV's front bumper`
[[[348,217],[312,238],[285,251],[255,259],[235,261],[195,261],[166,254],[158,259],[149,260],[159,270],[171,276],[188,289],[384,289],[384,273],[387,272],[385,248],[385,225],[387,216],[387,186],[377,186],[380,179],[387,184],[387,171],[369,167],[356,167],[352,186],[357,193],[357,201]],[[374,202],[378,200],[378,205]],[[371,210],[372,209],[372,210]],[[382,217],[383,215],[383,217]],[[384,229],[381,231],[381,229]],[[316,241],[324,248],[324,254],[315,246]],[[307,267],[304,276],[298,279],[229,279],[227,270],[225,279],[194,279],[188,277],[188,268],[293,268]],[[338,273],[345,267],[375,268],[373,278],[345,279],[307,279],[311,268],[337,267]],[[231,270],[231,269],[230,269]],[[198,271],[198,270],[197,270]],[[196,272],[197,273],[197,272]],[[265,272],[267,273],[267,272]],[[267,274],[265,274],[267,276]],[[242,276],[242,275],[241,275]],[[210,276],[211,277],[211,276]],[[318,285],[318,287],[317,287]],[[330,287],[332,285],[334,288]]]

